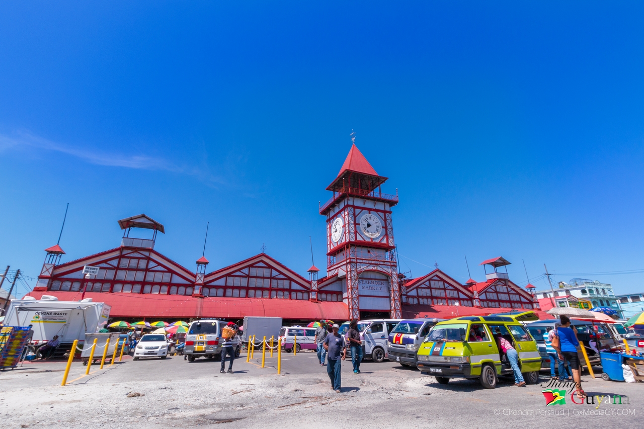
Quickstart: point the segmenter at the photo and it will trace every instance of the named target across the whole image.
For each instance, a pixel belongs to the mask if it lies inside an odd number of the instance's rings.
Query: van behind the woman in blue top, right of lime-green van
[[[577,333],[577,339],[583,343],[588,361],[591,365],[601,365],[600,351],[609,351],[611,348],[621,347],[621,341],[618,341],[608,327],[609,323],[598,323],[583,320],[570,319],[571,327],[574,327]],[[550,368],[550,357],[545,352],[544,333],[546,327],[552,327],[558,323],[559,319],[547,319],[528,323],[527,329],[536,340],[539,348],[539,353],[542,358],[542,367]],[[581,351],[578,352],[579,361],[582,365],[586,365],[585,359]]]

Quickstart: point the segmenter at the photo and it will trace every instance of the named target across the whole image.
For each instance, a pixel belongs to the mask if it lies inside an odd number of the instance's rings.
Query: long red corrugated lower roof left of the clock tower
[[[28,296],[40,299],[53,295],[61,301],[78,301],[81,292],[30,292]],[[270,316],[283,319],[347,320],[349,310],[343,302],[304,300],[278,300],[263,298],[193,298],[183,295],[123,294],[86,292],[85,298],[111,306],[110,318],[226,318],[242,319],[244,316]],[[202,309],[198,314],[198,303]]]

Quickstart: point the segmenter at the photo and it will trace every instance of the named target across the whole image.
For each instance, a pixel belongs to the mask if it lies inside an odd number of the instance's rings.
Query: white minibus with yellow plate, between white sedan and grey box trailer
[[[222,353],[222,329],[227,325],[223,320],[197,320],[190,324],[185,336],[184,354],[188,361],[193,362],[197,357],[220,357]],[[242,339],[238,335],[232,338],[235,356],[242,352]]]

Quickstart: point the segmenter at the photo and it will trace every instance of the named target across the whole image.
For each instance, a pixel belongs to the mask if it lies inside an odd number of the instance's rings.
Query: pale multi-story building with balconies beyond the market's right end
[[[558,287],[554,287],[554,293],[550,289],[537,291],[536,297],[540,300],[544,298],[554,298],[560,301],[565,297],[574,297],[591,302],[592,307],[610,307],[620,312],[615,294],[612,292],[610,283],[601,283],[599,280],[589,280],[587,278],[573,278],[568,282],[560,281]],[[574,300],[573,301],[578,301]]]

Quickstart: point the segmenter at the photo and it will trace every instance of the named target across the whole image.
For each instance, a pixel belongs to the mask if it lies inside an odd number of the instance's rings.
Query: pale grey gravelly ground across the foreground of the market
[[[103,370],[92,367],[86,377],[81,377],[85,367],[75,362],[67,386],[60,385],[63,362],[28,363],[0,374],[2,427],[631,428],[641,427],[644,410],[643,384],[589,376],[584,376],[587,392],[628,395],[629,405],[574,405],[567,396],[566,405],[546,407],[544,387],[538,385],[518,388],[509,380],[495,390],[468,380],[439,385],[416,370],[369,361],[357,376],[345,361],[343,391],[336,394],[314,353],[285,355],[281,375],[275,361],[267,359],[267,367],[260,368],[259,359],[246,363],[242,357],[234,363],[235,374],[220,374],[220,363],[206,359],[127,357]]]

